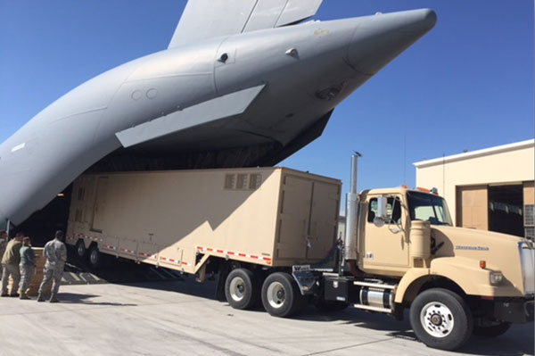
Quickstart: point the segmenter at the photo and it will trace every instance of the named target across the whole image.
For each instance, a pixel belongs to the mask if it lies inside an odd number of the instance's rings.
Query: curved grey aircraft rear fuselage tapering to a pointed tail
[[[288,145],[432,29],[430,10],[310,21],[181,46],[109,70],[39,112],[0,145],[0,227],[20,224],[84,170],[124,146],[118,133],[259,87],[236,120],[204,126],[203,145]],[[177,116],[173,116],[177,115]],[[217,115],[216,115],[217,116]],[[191,120],[194,121],[194,118]],[[194,127],[195,125],[189,125]]]

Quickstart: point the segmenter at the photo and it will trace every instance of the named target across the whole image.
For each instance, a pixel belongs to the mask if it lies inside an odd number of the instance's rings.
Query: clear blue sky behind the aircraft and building
[[[0,0],[0,142],[87,79],[165,49],[184,6]],[[435,10],[436,27],[343,102],[324,135],[285,166],[342,178],[347,189],[357,150],[359,189],[414,186],[415,161],[533,138],[532,0],[325,0],[315,19],[416,8]]]

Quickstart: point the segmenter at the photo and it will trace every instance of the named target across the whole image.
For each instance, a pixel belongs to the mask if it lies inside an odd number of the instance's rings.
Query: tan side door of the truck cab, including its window
[[[401,196],[390,196],[387,203],[390,223],[383,227],[374,224],[377,211],[377,198],[369,197],[365,227],[365,244],[363,264],[366,269],[382,266],[392,268],[408,267],[408,244],[407,236],[399,228],[403,224],[404,209],[401,208]],[[399,225],[398,225],[399,224]]]

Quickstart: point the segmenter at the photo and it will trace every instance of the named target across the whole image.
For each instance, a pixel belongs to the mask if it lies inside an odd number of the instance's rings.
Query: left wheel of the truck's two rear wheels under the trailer
[[[249,269],[233,269],[226,277],[226,302],[234,309],[251,309],[259,301],[259,279]]]

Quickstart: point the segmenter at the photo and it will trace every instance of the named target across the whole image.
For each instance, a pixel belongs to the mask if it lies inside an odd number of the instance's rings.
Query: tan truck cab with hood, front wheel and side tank
[[[445,350],[533,320],[531,241],[456,228],[446,201],[426,189],[366,190],[357,202],[348,218],[357,228],[346,237],[356,239],[346,242],[356,248],[345,251],[351,276],[326,277],[327,299],[396,319],[409,309],[416,336]]]

